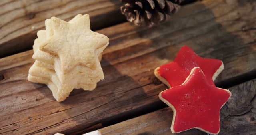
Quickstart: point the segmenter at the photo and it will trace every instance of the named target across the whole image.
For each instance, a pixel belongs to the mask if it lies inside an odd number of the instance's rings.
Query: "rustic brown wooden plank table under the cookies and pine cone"
[[[136,27],[119,0],[0,1],[0,134],[171,135],[172,110],[160,99],[154,69],[182,45],[224,62],[215,83],[232,97],[221,109],[220,135],[256,134],[256,1],[202,0],[172,20]],[[58,103],[46,85],[27,80],[36,32],[44,20],[90,14],[92,29],[110,38],[101,62],[105,79],[94,91],[74,90]],[[28,50],[28,51],[25,51]],[[206,134],[192,129],[180,135]]]

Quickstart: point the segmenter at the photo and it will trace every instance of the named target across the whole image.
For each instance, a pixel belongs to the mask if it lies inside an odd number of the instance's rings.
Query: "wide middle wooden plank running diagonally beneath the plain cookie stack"
[[[154,68],[172,61],[184,44],[223,60],[218,82],[254,72],[255,7],[251,0],[205,0],[184,6],[160,26],[126,22],[98,30],[110,38],[101,62],[104,81],[94,91],[74,90],[61,103],[45,85],[27,81],[32,50],[2,58],[0,133],[73,133],[156,107],[166,86],[153,83]]]

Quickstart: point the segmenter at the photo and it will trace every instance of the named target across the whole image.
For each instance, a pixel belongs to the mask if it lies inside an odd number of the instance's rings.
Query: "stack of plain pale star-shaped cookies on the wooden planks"
[[[46,30],[34,41],[35,63],[28,80],[44,83],[57,101],[65,100],[73,89],[93,90],[104,79],[100,66],[108,37],[90,30],[89,16],[78,14],[69,22],[56,17],[45,21]]]

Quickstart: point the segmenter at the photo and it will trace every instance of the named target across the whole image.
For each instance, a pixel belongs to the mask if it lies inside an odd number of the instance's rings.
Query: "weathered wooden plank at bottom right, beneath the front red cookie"
[[[219,135],[256,134],[256,79],[229,88],[232,97],[221,109]],[[102,135],[173,135],[172,109],[164,109],[99,129]],[[197,129],[179,135],[207,135]]]

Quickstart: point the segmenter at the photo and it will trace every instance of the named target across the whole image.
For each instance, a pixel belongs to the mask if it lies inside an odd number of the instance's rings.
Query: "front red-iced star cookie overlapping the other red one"
[[[195,67],[183,85],[167,89],[160,96],[176,110],[172,123],[175,133],[198,127],[216,134],[220,130],[220,109],[231,93],[210,85],[202,70]]]

